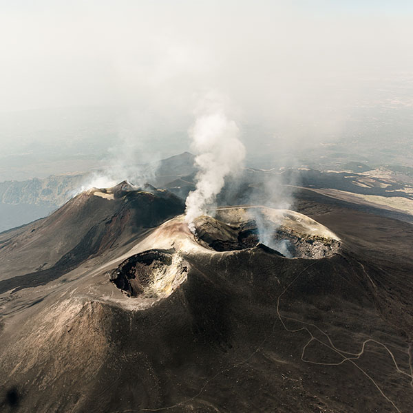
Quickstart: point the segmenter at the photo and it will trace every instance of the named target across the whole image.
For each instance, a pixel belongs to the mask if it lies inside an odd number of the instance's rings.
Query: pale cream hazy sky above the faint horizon
[[[125,107],[141,135],[185,131],[211,90],[281,142],[413,104],[412,1],[0,0],[0,39],[0,112]]]

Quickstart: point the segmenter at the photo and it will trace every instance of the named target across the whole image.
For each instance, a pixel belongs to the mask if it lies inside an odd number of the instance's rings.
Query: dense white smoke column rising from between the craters
[[[190,136],[199,172],[195,177],[195,191],[187,197],[185,212],[185,220],[193,233],[193,220],[207,213],[224,187],[225,177],[236,173],[242,166],[245,147],[238,139],[239,134],[235,122],[217,107],[195,120]]]

